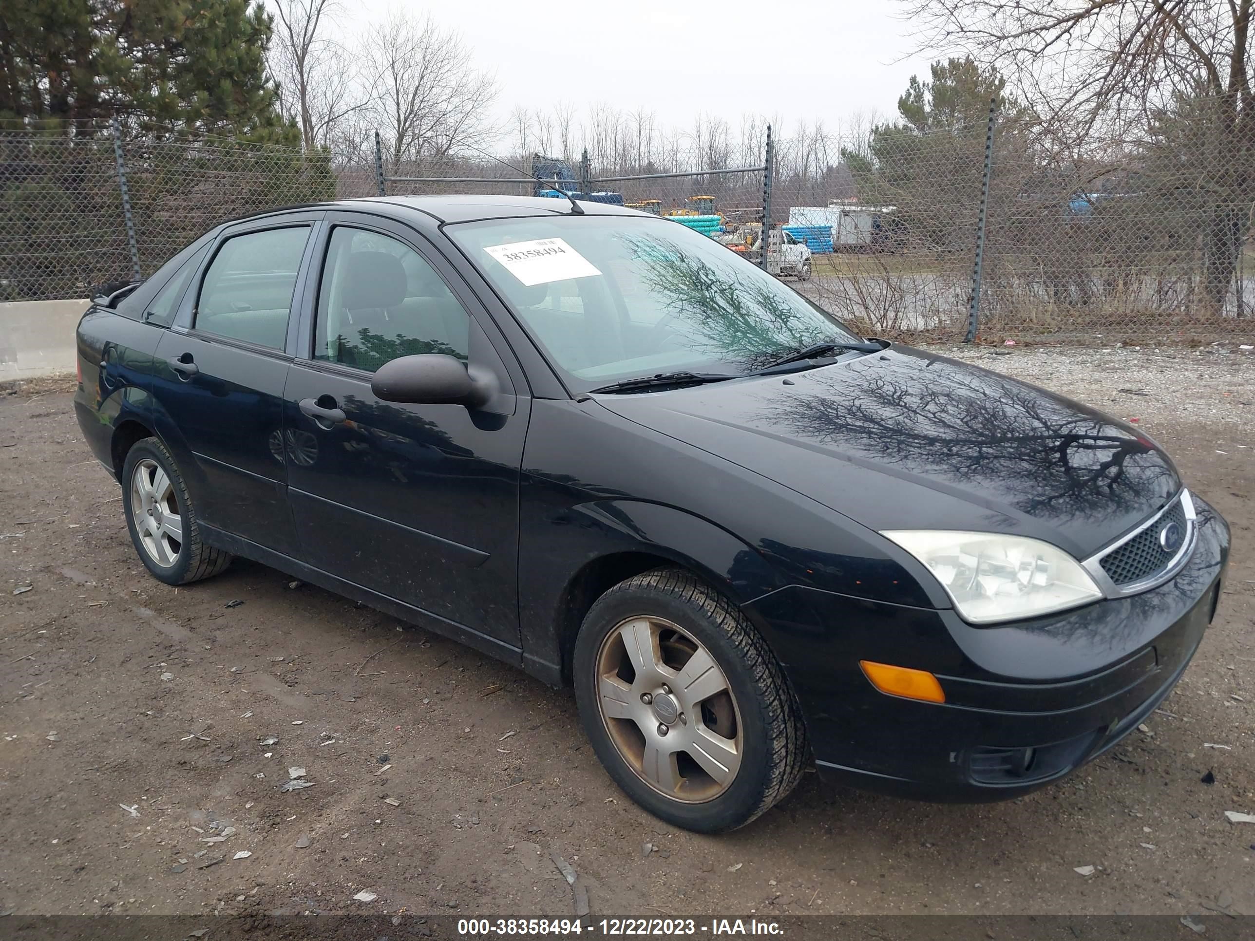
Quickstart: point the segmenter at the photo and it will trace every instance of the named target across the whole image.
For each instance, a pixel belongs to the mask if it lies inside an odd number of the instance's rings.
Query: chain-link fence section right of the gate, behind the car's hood
[[[828,164],[797,153],[814,142],[788,142],[773,221],[813,252],[799,290],[867,334],[1249,340],[1255,154],[1219,125],[1202,102],[1079,143],[996,113],[827,139]]]

